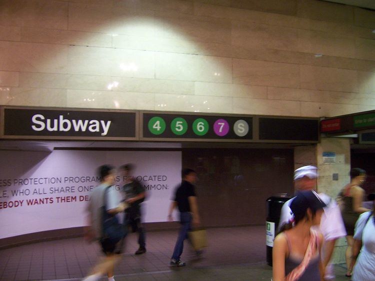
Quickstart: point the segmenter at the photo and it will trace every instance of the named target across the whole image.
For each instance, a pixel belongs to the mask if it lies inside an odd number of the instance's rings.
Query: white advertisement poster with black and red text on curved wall
[[[181,181],[179,151],[0,151],[0,239],[86,225],[90,190],[103,164],[134,164],[144,185],[144,222],[165,222],[174,188]],[[116,188],[123,177],[118,172]]]

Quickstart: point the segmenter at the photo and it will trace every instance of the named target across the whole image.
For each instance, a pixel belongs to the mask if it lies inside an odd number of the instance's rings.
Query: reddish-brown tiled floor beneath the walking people
[[[134,255],[136,236],[130,234],[115,268],[116,281],[270,279],[271,268],[264,263],[264,227],[208,229],[207,235],[203,258],[196,259],[187,246],[181,257],[187,265],[176,269],[169,267],[176,231],[148,233],[147,253],[140,256]],[[98,245],[82,238],[14,247],[0,251],[0,280],[79,280],[100,256]]]

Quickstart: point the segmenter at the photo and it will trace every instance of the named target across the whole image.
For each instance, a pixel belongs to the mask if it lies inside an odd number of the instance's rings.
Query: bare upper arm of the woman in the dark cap
[[[272,280],[285,280],[285,257],[287,254],[287,242],[285,235],[280,233],[273,241],[272,249]]]

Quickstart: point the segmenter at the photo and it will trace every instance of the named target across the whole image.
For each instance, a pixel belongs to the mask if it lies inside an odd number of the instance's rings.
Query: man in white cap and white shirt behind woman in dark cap
[[[305,190],[316,190],[317,168],[315,166],[303,166],[294,171],[294,186],[296,194]],[[322,266],[324,271],[324,280],[334,280],[333,266],[329,263],[332,257],[336,240],[346,235],[342,222],[340,209],[335,200],[332,200],[326,194],[320,193],[319,197],[327,205],[324,208],[318,230],[324,237],[322,247]],[[285,202],[281,208],[279,229],[292,219],[290,204],[294,198]]]

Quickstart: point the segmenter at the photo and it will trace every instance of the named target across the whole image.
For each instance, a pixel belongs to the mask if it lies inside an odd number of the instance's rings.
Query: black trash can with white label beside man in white
[[[280,221],[280,212],[282,205],[291,197],[286,193],[279,193],[269,197],[266,200],[267,218],[265,222],[266,237],[266,260],[269,266],[272,266],[272,248],[273,239],[277,232],[278,223]]]

